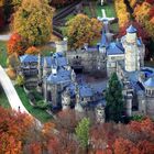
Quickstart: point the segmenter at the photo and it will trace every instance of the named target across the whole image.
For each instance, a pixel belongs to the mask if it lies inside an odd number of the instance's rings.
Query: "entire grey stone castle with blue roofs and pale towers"
[[[52,56],[21,56],[20,72],[26,76],[25,86],[37,86],[53,107],[74,108],[80,113],[91,110],[97,120],[103,122],[106,101],[102,94],[77,81],[74,69],[98,72],[108,77],[116,72],[123,86],[127,114],[154,118],[154,69],[144,67],[145,46],[136,33],[130,25],[120,41],[110,42],[102,31],[100,43],[95,47],[85,44],[80,50],[68,51],[67,40],[64,40],[56,43],[56,53]]]

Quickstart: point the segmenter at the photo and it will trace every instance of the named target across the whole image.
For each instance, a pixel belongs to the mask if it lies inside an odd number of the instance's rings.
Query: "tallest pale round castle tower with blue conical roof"
[[[136,44],[136,29],[130,25],[127,29],[125,41],[123,42],[125,50],[125,70],[135,72],[140,69],[140,53]]]

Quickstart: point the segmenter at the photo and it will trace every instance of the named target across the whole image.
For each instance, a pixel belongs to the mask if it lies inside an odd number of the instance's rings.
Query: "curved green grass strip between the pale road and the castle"
[[[23,103],[23,106],[26,108],[26,110],[36,119],[38,119],[41,122],[47,122],[50,120],[52,120],[52,116],[50,116],[46,111],[41,110],[41,109],[36,109],[34,107],[32,107],[29,102],[28,96],[24,92],[22,87],[15,86],[16,92]]]

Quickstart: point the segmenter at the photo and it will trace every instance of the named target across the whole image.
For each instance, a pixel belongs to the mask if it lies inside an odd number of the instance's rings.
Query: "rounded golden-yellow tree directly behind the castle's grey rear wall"
[[[78,14],[66,23],[68,44],[73,48],[82,47],[85,43],[91,43],[100,36],[102,23],[87,15]]]

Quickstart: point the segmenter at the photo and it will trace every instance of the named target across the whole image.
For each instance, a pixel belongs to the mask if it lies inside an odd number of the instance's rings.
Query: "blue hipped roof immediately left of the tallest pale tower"
[[[112,42],[110,45],[107,47],[107,55],[119,55],[123,54],[124,48],[120,42]]]

